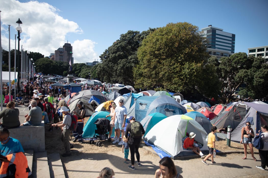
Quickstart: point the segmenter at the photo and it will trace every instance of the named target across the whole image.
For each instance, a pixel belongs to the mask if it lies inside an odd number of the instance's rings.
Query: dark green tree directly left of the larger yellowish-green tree
[[[155,29],[140,33],[129,30],[120,35],[112,46],[100,56],[102,64],[97,66],[96,76],[105,82],[134,85],[133,68],[137,65],[137,49],[148,34]]]

